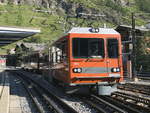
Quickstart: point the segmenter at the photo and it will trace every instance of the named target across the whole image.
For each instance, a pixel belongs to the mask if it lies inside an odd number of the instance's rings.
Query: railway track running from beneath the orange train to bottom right
[[[100,113],[149,113],[149,109],[111,96],[91,95],[84,101]]]

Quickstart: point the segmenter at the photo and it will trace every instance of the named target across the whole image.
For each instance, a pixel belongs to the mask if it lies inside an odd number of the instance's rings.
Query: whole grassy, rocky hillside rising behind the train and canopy
[[[149,6],[149,0],[0,0],[0,26],[40,28],[42,33],[24,41],[48,42],[73,26],[131,25],[132,12],[142,13],[136,25],[145,25]]]

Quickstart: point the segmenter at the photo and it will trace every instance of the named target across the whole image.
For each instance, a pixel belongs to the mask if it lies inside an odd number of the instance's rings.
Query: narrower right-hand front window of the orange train
[[[118,40],[117,39],[108,39],[107,40],[107,51],[109,58],[118,58]]]

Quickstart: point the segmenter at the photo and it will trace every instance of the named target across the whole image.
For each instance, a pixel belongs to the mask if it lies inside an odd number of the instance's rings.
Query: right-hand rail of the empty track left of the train
[[[77,113],[76,110],[74,110],[71,106],[66,104],[60,97],[54,94],[54,89],[50,88],[50,84],[47,84],[41,79],[32,78],[31,76],[26,75],[21,71],[16,73],[20,77],[24,77],[24,79],[29,79],[33,84],[35,84],[39,94],[43,95],[44,99],[50,104],[51,107],[55,109],[57,113]]]

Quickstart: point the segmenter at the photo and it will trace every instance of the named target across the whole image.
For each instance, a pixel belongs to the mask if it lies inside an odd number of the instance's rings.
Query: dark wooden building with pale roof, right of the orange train
[[[133,49],[132,43],[132,26],[119,25],[116,30],[122,36],[122,51],[123,51],[123,64],[124,64],[124,75],[127,78],[132,78],[132,62],[131,54]],[[145,27],[135,27],[135,38],[144,38],[144,34],[148,32],[149,29]]]

